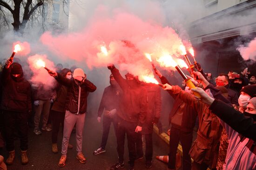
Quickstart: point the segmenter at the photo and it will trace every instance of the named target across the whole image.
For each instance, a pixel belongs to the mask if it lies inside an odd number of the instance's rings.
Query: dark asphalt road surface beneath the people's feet
[[[29,129],[29,149],[27,165],[21,165],[19,140],[15,141],[15,160],[13,165],[7,166],[8,170],[109,170],[110,166],[117,162],[116,139],[113,126],[111,127],[106,152],[100,155],[93,155],[93,151],[97,149],[101,143],[102,123],[98,123],[95,115],[88,114],[86,116],[84,133],[83,133],[83,154],[87,158],[86,164],[81,164],[75,158],[75,134],[71,134],[70,143],[74,145],[72,150],[67,152],[66,166],[58,167],[61,157],[61,135],[59,133],[58,148],[59,153],[51,151],[51,132],[43,131],[41,135],[35,135],[33,128]],[[155,133],[153,135],[154,153],[153,167],[151,170],[167,170],[167,164],[155,159],[157,155],[167,155],[168,145],[160,139]],[[7,157],[7,151],[4,149],[1,155]],[[128,148],[127,142],[125,146],[125,163],[128,168]],[[125,170],[124,169],[124,170]],[[147,170],[145,168],[145,159],[135,163],[135,170]]]

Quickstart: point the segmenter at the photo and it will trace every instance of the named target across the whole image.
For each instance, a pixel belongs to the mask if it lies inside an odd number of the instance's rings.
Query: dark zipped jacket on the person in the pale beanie
[[[87,97],[89,92],[94,92],[96,90],[96,86],[87,79],[78,85],[74,79],[67,79],[61,76],[58,73],[58,76],[55,78],[60,84],[67,86],[68,93],[67,93],[67,100],[65,104],[66,110],[70,111],[71,113],[78,114],[86,113],[87,110]],[[79,88],[81,88],[81,97],[80,97],[80,105],[79,103]]]

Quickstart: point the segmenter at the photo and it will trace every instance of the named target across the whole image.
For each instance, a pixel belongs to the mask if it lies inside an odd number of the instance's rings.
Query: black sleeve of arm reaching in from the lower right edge
[[[215,100],[209,109],[221,120],[246,138],[256,141],[256,123],[223,101]]]

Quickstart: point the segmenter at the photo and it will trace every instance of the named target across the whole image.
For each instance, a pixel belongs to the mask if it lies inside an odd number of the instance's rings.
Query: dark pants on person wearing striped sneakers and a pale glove
[[[110,118],[107,116],[103,116],[103,133],[102,133],[102,139],[101,139],[101,148],[105,149],[108,141],[108,134],[109,134],[109,129],[110,125],[113,122],[113,126],[115,129],[115,135],[116,135],[116,130],[117,130],[117,120],[116,117]]]

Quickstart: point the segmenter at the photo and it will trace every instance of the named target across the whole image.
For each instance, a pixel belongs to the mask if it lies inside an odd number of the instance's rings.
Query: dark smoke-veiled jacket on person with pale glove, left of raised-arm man
[[[118,84],[110,85],[104,89],[102,94],[100,107],[98,110],[98,117],[101,117],[103,110],[111,111],[116,109],[119,112],[119,101],[121,99],[122,89]]]

